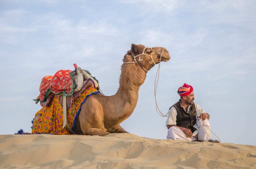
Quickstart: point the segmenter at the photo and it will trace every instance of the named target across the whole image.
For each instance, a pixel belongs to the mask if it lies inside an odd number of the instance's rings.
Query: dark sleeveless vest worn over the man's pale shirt
[[[176,116],[176,125],[179,127],[184,127],[190,129],[192,132],[196,130],[193,126],[196,124],[196,106],[195,103],[190,105],[189,113],[187,113],[184,108],[180,106],[180,100],[175,103],[172,107],[174,107],[177,111]],[[170,108],[172,108],[170,107]],[[169,108],[169,110],[170,110]]]

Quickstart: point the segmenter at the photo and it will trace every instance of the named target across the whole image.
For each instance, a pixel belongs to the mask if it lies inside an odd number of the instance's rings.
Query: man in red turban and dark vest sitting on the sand
[[[208,121],[210,115],[194,103],[193,87],[184,83],[178,89],[178,94],[180,95],[180,100],[170,107],[168,112],[166,138],[219,143],[218,140],[212,140],[210,136],[210,124]],[[200,118],[202,119],[201,122]]]

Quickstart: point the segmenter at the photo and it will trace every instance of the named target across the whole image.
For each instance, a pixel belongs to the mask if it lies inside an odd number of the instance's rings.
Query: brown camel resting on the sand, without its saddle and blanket
[[[140,56],[134,58],[137,55]],[[128,133],[120,123],[133,113],[146,73],[160,63],[161,55],[161,61],[169,61],[169,52],[163,47],[147,48],[144,45],[132,44],[131,50],[123,58],[118,91],[112,96],[93,94],[88,97],[81,107],[74,132],[79,135],[98,136]]]

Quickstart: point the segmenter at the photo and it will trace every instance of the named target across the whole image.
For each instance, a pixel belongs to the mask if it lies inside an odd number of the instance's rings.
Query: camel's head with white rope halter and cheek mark
[[[161,61],[167,62],[170,60],[169,52],[164,47],[150,48],[145,47],[144,45],[132,44],[131,50],[127,53],[132,57],[124,58],[123,62],[135,62],[135,57],[136,62],[145,72],[150,70],[155,64],[160,63],[161,54]]]

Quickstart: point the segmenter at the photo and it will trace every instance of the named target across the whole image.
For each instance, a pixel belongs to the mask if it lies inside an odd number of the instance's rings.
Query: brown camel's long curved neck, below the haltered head
[[[138,101],[138,91],[146,79],[146,72],[136,63],[123,64],[121,68],[120,87],[109,99],[114,104],[111,121],[120,124],[134,111]]]

